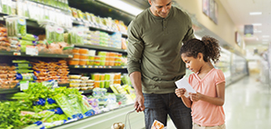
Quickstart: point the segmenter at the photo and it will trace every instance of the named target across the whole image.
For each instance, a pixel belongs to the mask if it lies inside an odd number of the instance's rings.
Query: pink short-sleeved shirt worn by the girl
[[[216,97],[216,85],[225,82],[225,76],[219,69],[213,68],[202,79],[197,74],[190,74],[188,83],[200,94]],[[223,106],[210,104],[205,101],[193,102],[192,119],[202,126],[215,126],[225,123]]]

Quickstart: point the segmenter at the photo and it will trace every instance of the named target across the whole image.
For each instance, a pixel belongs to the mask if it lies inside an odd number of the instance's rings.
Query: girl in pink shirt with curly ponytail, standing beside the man
[[[176,95],[192,109],[193,129],[225,129],[225,76],[210,62],[216,63],[220,56],[218,41],[210,36],[191,39],[181,47],[180,53],[186,67],[194,72],[189,75],[188,83],[196,94],[190,93],[186,98],[186,89],[177,88]]]

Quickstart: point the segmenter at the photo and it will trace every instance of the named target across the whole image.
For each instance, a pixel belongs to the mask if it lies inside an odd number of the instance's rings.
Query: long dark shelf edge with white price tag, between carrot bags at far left
[[[51,58],[72,58],[74,56],[74,55],[55,55],[55,54],[26,55],[25,53],[7,52],[7,51],[0,51],[0,55],[32,56],[32,57],[51,57]]]

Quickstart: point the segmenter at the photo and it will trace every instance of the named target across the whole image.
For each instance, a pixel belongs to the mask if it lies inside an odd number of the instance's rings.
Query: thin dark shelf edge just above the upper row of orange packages
[[[108,46],[101,46],[101,45],[75,45],[75,47],[90,48],[90,49],[109,51],[109,52],[119,52],[119,53],[124,53],[124,54],[127,53],[127,51],[124,49],[108,47]]]

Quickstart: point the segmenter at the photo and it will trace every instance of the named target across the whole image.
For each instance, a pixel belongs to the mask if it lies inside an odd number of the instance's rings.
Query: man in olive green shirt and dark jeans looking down
[[[183,41],[195,38],[190,17],[172,0],[151,5],[128,26],[127,70],[135,88],[136,112],[145,113],[146,129],[167,114],[178,129],[191,129],[190,108],[175,94],[175,82],[186,74],[179,54]]]

